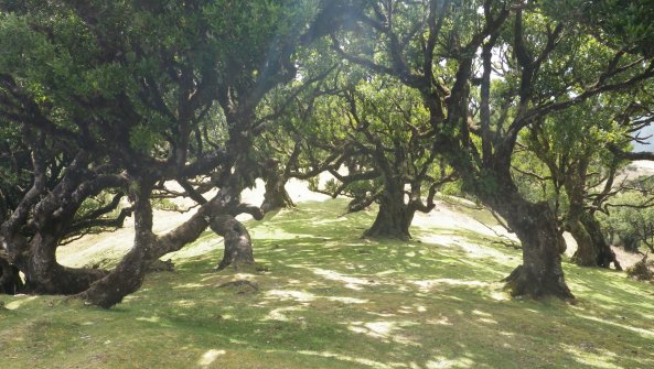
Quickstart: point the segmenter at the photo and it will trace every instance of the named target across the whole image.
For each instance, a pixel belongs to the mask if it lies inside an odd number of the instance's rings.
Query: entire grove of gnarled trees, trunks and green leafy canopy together
[[[32,292],[110,307],[207,227],[218,269],[253,264],[235,217],[290,205],[290,177],[330,173],[350,211],[379,204],[367,236],[399,238],[460,178],[522,243],[511,294],[572,299],[564,230],[580,264],[619,268],[594,215],[652,121],[652,15],[608,0],[1,1],[2,247]],[[264,204],[243,204],[257,178]],[[197,209],[158,235],[162,194]],[[57,263],[127,216],[114,270]]]

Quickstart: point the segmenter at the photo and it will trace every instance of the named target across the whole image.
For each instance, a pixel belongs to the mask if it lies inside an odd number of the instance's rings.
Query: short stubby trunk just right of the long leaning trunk
[[[229,265],[238,270],[240,267],[255,264],[251,239],[240,221],[228,215],[219,216],[212,221],[211,228],[224,238],[225,243],[225,253],[216,270]]]

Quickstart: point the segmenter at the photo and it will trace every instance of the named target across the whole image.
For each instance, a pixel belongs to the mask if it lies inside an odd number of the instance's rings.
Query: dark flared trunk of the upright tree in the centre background
[[[396,238],[408,240],[411,238],[409,227],[414,220],[415,210],[404,202],[404,193],[382,196],[379,210],[373,226],[364,232],[364,237]]]

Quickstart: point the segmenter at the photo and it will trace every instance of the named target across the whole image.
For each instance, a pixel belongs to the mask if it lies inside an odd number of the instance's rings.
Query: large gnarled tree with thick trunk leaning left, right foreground
[[[530,1],[374,2],[361,24],[375,35],[372,53],[337,35],[334,47],[420,91],[433,150],[522,241],[523,264],[506,279],[511,294],[572,297],[554,211],[526,199],[511,175],[518,133],[592,96],[637,85],[654,75],[652,61],[612,50]]]

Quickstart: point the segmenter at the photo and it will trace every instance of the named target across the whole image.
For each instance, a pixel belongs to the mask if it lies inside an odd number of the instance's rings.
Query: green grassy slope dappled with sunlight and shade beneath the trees
[[[109,311],[1,296],[0,366],[654,367],[651,284],[566,263],[576,304],[510,300],[497,281],[518,250],[430,227],[411,242],[364,240],[374,214],[336,217],[344,205],[304,203],[250,223],[266,272],[214,272],[222,242],[207,234],[172,256],[175,272],[151,274]],[[430,241],[444,237],[454,241]],[[257,289],[221,287],[236,280]]]

